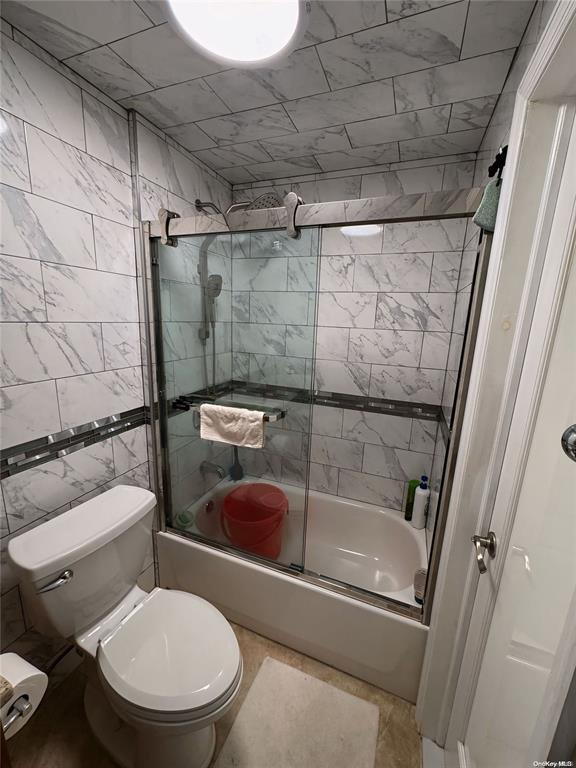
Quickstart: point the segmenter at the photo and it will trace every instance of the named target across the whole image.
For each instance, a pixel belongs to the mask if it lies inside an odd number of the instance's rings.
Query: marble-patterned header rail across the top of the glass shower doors
[[[366,197],[361,200],[342,200],[332,203],[302,204],[296,210],[296,226],[363,224],[378,221],[422,221],[425,219],[469,218],[476,213],[483,187],[455,189],[445,192],[423,192],[414,195]],[[283,229],[286,227],[284,208],[265,208],[256,211],[236,211],[227,217],[211,221],[213,232],[240,232],[254,229]],[[173,219],[170,234],[174,237],[198,234],[197,217]],[[151,237],[160,237],[160,224],[151,222]]]

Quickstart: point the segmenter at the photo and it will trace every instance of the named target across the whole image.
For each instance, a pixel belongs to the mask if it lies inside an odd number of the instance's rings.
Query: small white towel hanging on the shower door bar
[[[200,437],[244,448],[262,448],[264,412],[203,403],[200,406]]]

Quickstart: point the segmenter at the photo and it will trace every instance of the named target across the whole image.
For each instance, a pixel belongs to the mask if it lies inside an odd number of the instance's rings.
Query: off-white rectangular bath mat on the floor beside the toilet
[[[266,657],[215,768],[374,768],[378,707]]]

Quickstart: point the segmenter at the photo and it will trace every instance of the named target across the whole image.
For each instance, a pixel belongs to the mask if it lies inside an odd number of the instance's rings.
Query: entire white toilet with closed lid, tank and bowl
[[[150,491],[117,486],[8,551],[34,625],[83,651],[86,714],[112,758],[123,768],[207,768],[242,656],[210,603],[136,585],[155,505]]]

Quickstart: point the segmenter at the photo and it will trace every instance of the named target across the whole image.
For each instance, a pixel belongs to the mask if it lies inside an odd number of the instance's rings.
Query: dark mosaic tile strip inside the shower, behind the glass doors
[[[344,408],[354,411],[387,413],[391,416],[404,416],[411,419],[441,421],[443,418],[442,409],[439,405],[407,403],[401,400],[386,400],[384,398],[363,397],[359,395],[343,395],[337,392],[310,392],[309,390],[297,389],[295,387],[256,384],[235,381],[234,379],[219,384],[216,387],[215,393],[210,393],[207,390],[198,390],[197,392],[169,400],[168,415],[175,416],[181,411],[188,410],[190,401],[197,401],[198,403],[216,402],[221,398],[230,399],[238,395],[294,403],[310,403],[312,405],[324,405],[331,408]]]

